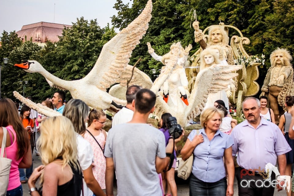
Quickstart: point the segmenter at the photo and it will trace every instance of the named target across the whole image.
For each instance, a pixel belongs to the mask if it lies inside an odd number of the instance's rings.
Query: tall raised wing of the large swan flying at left
[[[115,83],[130,62],[132,51],[146,33],[151,11],[152,1],[149,0],[139,16],[103,46],[94,68],[84,78],[87,82],[101,90]]]

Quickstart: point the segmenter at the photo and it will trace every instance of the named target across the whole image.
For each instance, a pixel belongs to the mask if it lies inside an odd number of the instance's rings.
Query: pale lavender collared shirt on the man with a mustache
[[[232,131],[233,156],[245,169],[265,169],[267,163],[276,165],[277,156],[291,150],[277,125],[261,118],[256,129],[247,120]]]

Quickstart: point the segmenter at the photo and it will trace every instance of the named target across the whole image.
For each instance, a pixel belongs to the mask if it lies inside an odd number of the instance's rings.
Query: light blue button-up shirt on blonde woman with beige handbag
[[[188,139],[192,141],[196,134],[197,130],[191,131]],[[220,130],[217,130],[211,141],[204,129],[199,130],[199,134],[202,134],[203,142],[194,149],[192,173],[204,182],[217,182],[226,176],[223,162],[224,150],[230,148],[234,141],[231,136]]]

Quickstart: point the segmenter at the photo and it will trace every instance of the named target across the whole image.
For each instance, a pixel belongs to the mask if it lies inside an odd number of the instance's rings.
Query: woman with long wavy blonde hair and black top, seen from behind
[[[43,165],[28,179],[31,195],[80,196],[82,173],[77,161],[77,137],[73,124],[64,116],[43,121],[37,146]],[[40,177],[42,188],[36,191]]]

